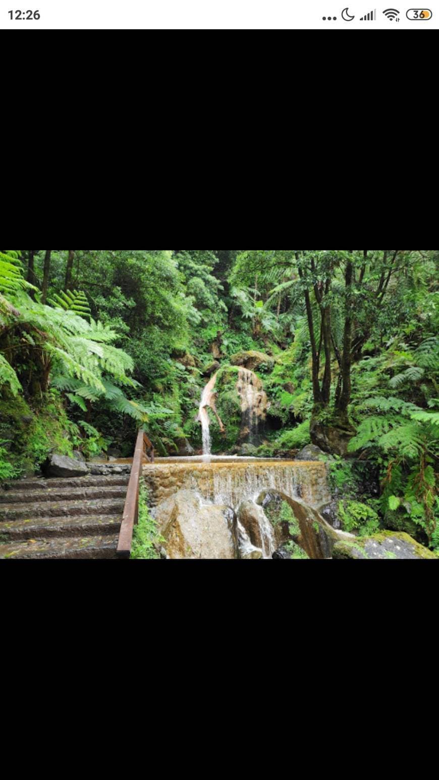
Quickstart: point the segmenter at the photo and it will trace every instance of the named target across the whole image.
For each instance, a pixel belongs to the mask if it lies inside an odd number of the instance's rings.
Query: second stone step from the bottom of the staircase
[[[20,539],[51,537],[90,537],[115,534],[122,515],[78,515],[75,517],[36,517],[0,523],[0,544]]]

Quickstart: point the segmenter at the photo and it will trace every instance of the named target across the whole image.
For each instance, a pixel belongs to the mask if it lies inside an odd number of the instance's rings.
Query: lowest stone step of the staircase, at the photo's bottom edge
[[[0,544],[0,559],[7,558],[115,558],[119,535],[54,537]]]

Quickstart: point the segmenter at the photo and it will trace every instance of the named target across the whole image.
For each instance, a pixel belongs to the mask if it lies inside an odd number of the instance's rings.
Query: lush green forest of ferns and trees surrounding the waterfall
[[[0,250],[0,481],[51,452],[328,459],[345,530],[439,549],[438,250]],[[243,438],[234,385],[268,406]]]

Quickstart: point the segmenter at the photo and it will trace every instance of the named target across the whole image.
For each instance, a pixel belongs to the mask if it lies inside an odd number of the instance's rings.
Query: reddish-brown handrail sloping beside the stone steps
[[[144,431],[139,431],[134,450],[133,466],[129,476],[126,502],[123,510],[122,524],[119,533],[119,542],[116,550],[118,558],[129,558],[131,544],[133,543],[134,526],[139,520],[139,485],[143,459],[154,463],[154,447]]]

